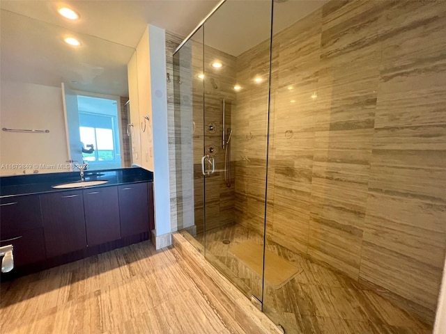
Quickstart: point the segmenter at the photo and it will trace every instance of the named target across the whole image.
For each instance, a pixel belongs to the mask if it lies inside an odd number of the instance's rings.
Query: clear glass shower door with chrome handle
[[[259,308],[270,20],[270,1],[226,1],[203,26],[205,255]]]

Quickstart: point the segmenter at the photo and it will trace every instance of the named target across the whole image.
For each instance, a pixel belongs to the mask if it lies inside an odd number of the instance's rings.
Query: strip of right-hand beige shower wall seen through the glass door
[[[266,205],[269,43],[236,59],[236,103],[231,116],[232,159],[236,163],[235,221],[263,233]],[[263,81],[256,83],[254,78]]]

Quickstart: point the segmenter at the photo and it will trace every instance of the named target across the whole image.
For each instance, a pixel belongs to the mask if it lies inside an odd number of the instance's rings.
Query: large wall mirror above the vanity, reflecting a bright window
[[[70,171],[82,161],[89,170],[130,167],[127,66],[135,50],[5,7],[0,175]]]

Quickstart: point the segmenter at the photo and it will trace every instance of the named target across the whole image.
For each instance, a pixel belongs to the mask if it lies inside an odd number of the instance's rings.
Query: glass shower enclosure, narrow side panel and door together
[[[224,3],[176,52],[175,117],[183,234],[249,298],[261,301],[270,63],[268,56],[261,67],[250,65],[240,57],[249,55],[246,45],[233,40],[251,17],[252,46],[263,42],[261,51],[269,55],[271,3],[251,5]],[[234,11],[238,17],[222,30]],[[246,182],[236,182],[238,175]],[[255,270],[245,270],[245,262]]]

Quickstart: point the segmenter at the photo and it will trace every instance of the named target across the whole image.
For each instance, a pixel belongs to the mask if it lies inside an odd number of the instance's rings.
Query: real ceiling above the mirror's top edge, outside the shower
[[[40,21],[137,47],[147,24],[188,35],[219,0],[1,0],[0,8]],[[67,6],[80,14],[70,21],[57,13]]]

